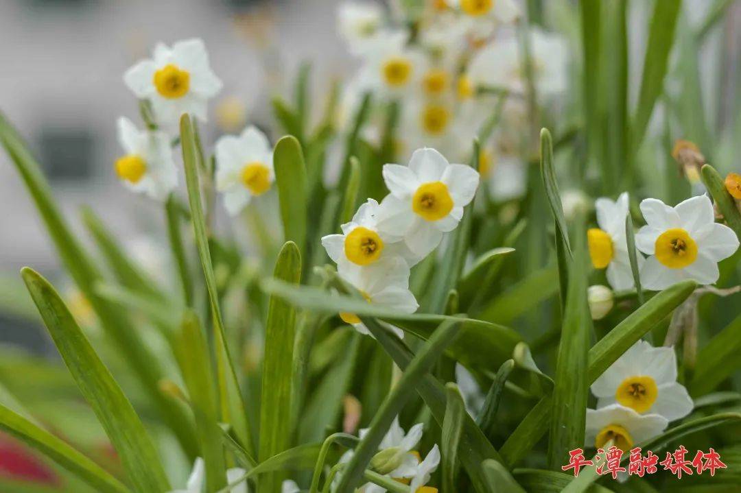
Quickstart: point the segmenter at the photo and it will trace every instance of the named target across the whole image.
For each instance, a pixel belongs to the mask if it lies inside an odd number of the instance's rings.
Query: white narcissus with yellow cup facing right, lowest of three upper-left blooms
[[[265,134],[250,125],[242,135],[216,141],[216,190],[224,207],[237,215],[253,197],[270,190],[275,181],[273,148]]]

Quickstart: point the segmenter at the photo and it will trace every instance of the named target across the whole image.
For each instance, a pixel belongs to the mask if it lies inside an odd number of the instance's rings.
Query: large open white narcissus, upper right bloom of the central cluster
[[[405,244],[422,257],[458,226],[479,186],[476,170],[449,164],[431,148],[414,151],[408,167],[386,164],[383,178],[391,193],[381,203],[379,231],[404,232]]]

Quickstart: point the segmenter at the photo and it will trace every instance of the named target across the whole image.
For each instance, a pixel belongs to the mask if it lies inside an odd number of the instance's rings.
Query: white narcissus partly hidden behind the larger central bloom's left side
[[[401,242],[403,235],[378,231],[378,212],[378,202],[369,198],[358,207],[352,221],[342,224],[341,235],[326,235],[322,238],[322,246],[335,264],[367,266],[381,258],[398,255],[405,258],[409,266],[421,260],[404,248]],[[344,269],[344,266],[339,269]]]

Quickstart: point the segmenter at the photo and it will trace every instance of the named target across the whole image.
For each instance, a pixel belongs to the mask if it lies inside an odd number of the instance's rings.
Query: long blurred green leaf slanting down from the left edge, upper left
[[[44,221],[67,272],[72,276],[85,298],[90,301],[102,328],[116,344],[116,349],[123,356],[122,359],[130,364],[133,373],[141,380],[142,386],[155,404],[159,415],[178,437],[187,455],[195,457],[197,446],[193,439],[193,426],[189,417],[182,412],[182,409],[172,406],[170,399],[162,395],[159,390],[159,380],[163,372],[158,359],[144,344],[139,332],[133,330],[126,313],[99,298],[94,292],[95,284],[102,280],[101,272],[64,221],[64,216],[53,200],[41,167],[2,113],[0,113],[0,141],[10,155],[13,164],[16,165],[36,208],[39,209],[41,219]]]

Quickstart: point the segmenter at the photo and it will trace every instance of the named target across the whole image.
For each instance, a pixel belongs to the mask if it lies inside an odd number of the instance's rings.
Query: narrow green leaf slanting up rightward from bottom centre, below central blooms
[[[365,323],[365,318],[361,320]],[[375,324],[368,326],[368,330],[376,338],[381,337],[376,332],[383,332],[384,335],[386,333],[386,329]],[[396,415],[399,415],[405,403],[413,397],[414,393],[412,390],[418,385],[419,380],[428,373],[433,364],[442,355],[442,352],[445,351],[445,348],[453,342],[457,330],[458,323],[456,321],[448,320],[441,323],[435,332],[433,332],[429,341],[422,346],[422,349],[419,349],[419,352],[414,356],[407,368],[405,368],[402,378],[399,379],[396,386],[393,387],[391,394],[384,400],[381,409],[373,416],[371,427],[368,429],[365,437],[360,440],[353,457],[350,458],[350,461],[342,471],[342,480],[340,480],[337,488],[340,492],[351,492],[359,486],[365,468],[371,462],[373,455],[378,452],[379,445],[391,426],[393,419]]]

